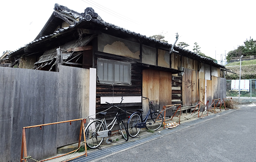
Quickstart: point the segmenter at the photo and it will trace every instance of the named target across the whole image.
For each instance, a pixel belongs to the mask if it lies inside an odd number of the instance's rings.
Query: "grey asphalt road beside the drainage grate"
[[[256,105],[172,132],[98,162],[256,162]]]

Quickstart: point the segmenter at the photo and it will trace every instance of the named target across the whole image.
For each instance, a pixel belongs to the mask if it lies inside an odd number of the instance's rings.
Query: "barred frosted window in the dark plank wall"
[[[130,84],[130,63],[98,59],[97,70],[100,83]]]

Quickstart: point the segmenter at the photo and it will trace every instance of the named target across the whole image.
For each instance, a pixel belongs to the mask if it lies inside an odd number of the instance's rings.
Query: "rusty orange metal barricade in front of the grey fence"
[[[60,124],[60,123],[65,123],[65,122],[70,122],[71,123],[72,121],[81,121],[79,140],[78,140],[78,149],[80,148],[80,144],[81,144],[82,130],[84,130],[85,153],[80,155],[80,156],[83,156],[83,155],[87,156],[86,139],[85,139],[85,128],[84,128],[84,124],[86,123],[86,119],[74,119],[74,120],[70,120],[70,121],[52,122],[52,123],[48,123],[48,124],[40,124],[40,125],[23,127],[23,129],[22,129],[22,146],[21,146],[20,162],[22,162],[23,160],[26,161],[26,158],[28,157],[27,145],[26,145],[26,131],[25,131],[25,129],[27,129],[27,128],[35,128],[35,127],[40,127],[40,129],[42,129],[42,126],[47,126],[47,125],[52,125],[52,124]],[[59,158],[59,157],[65,156],[65,155],[70,154],[70,153],[75,152],[75,151],[76,150],[73,150],[71,152],[68,152],[66,154],[63,154],[63,155],[60,155],[60,156],[57,156],[57,157],[54,157],[54,158]],[[74,158],[78,158],[80,156],[76,156]],[[51,160],[51,159],[54,159],[54,158],[48,158],[48,159],[45,159],[45,160],[40,160],[40,162],[43,162],[43,161],[46,161],[46,160]],[[70,161],[70,160],[72,160],[74,158],[71,158],[71,159],[68,159],[68,160],[62,161],[62,162],[67,162],[67,161]]]

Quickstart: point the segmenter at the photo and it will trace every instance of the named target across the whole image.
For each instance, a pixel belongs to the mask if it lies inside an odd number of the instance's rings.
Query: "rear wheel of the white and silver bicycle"
[[[88,124],[85,131],[86,144],[89,148],[97,148],[104,140],[104,137],[98,137],[98,131],[106,130],[105,125],[100,120],[94,120]]]

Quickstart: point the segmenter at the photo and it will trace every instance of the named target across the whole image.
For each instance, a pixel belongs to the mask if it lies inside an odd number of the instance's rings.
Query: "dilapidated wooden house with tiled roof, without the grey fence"
[[[58,71],[64,65],[94,69],[90,77],[95,77],[91,83],[95,80],[96,91],[89,98],[95,99],[96,110],[92,108],[90,115],[106,109],[106,101],[119,103],[121,96],[128,111],[142,105],[146,110],[142,96],[162,105],[183,106],[225,97],[224,66],[179,47],[174,47],[178,53],[169,53],[170,47],[109,24],[92,8],[79,13],[55,4],[36,39],[8,58],[12,66],[20,68]]]

